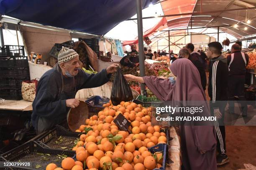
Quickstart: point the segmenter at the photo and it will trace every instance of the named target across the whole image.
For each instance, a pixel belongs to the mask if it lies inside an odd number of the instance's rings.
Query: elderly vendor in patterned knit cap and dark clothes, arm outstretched
[[[87,74],[79,69],[79,55],[72,49],[62,47],[58,64],[41,77],[33,101],[32,124],[38,134],[51,129],[67,119],[69,109],[79,105],[75,99],[78,90],[102,86],[117,71],[112,64],[97,74]]]

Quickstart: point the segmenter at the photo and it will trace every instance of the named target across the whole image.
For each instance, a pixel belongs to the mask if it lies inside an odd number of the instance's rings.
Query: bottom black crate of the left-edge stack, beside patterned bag
[[[22,100],[20,89],[0,89],[0,98],[9,100]]]

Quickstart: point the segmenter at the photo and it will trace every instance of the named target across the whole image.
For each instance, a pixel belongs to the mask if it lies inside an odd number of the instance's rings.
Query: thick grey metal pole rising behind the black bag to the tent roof
[[[143,25],[142,25],[142,5],[141,0],[136,0],[137,10],[137,25],[138,25],[138,45],[139,45],[139,63],[140,63],[140,75],[145,76],[145,64],[144,64],[144,47],[143,47]],[[144,94],[145,84],[141,84],[141,94]]]

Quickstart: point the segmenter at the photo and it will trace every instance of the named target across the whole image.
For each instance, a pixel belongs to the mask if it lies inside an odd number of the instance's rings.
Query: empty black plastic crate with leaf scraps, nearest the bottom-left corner
[[[5,161],[30,163],[30,166],[16,166],[13,167],[13,170],[45,170],[49,163],[55,163],[58,167],[61,167],[63,158],[59,158],[59,155],[73,157],[74,152],[69,150],[54,150],[44,148],[37,142],[30,141],[4,153],[1,156]],[[36,168],[36,166],[38,166],[38,168]]]

